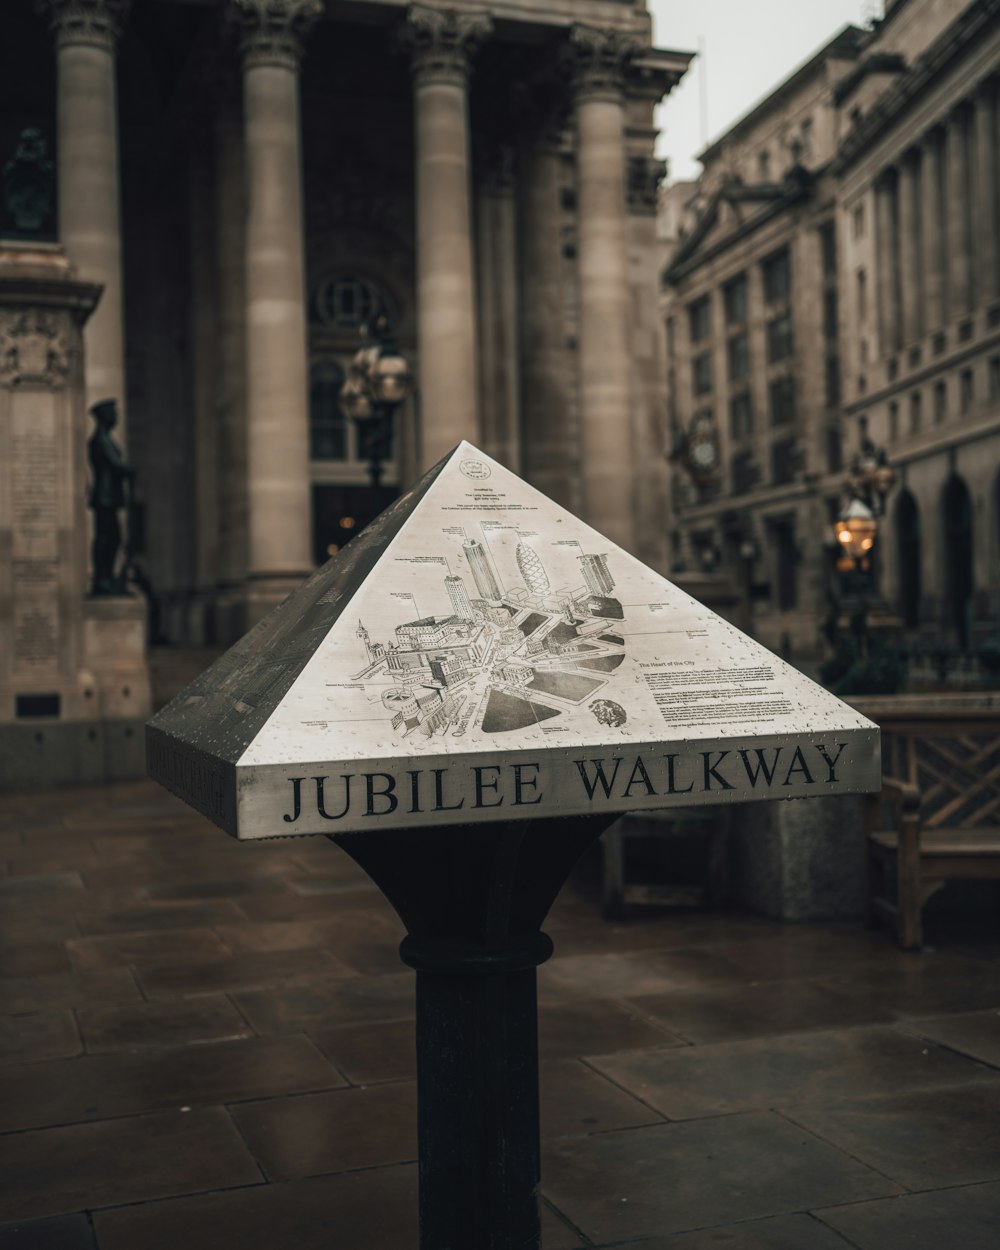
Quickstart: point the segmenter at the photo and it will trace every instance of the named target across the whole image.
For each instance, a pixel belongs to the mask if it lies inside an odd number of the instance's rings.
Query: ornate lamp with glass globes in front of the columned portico
[[[355,352],[340,402],[358,430],[359,455],[368,460],[374,518],[380,511],[382,465],[392,456],[396,409],[410,394],[412,372],[384,310],[368,321],[362,332],[370,341]]]

